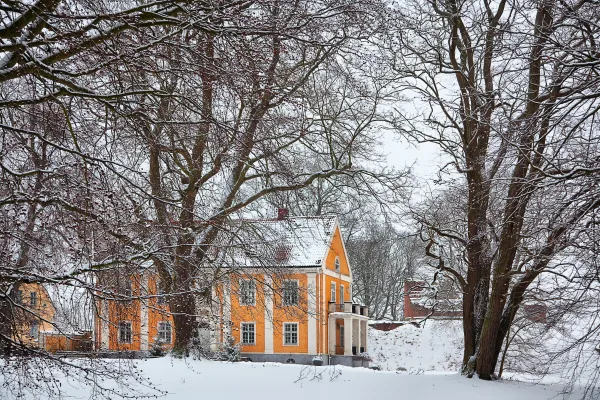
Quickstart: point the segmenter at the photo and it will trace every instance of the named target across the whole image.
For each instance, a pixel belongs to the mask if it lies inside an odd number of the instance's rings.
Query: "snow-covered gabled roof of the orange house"
[[[336,225],[334,215],[238,220],[227,235],[233,251],[226,258],[245,267],[319,267]]]

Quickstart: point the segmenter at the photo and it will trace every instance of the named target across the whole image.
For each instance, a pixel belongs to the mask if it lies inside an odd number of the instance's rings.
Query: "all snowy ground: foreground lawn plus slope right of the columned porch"
[[[115,391],[109,393],[109,399],[120,398],[118,393],[127,393],[129,397],[158,395],[168,400],[279,400],[282,397],[306,400],[325,396],[345,400],[577,400],[583,397],[581,389],[563,396],[563,385],[558,383],[486,382],[460,376],[456,371],[461,357],[461,335],[460,321],[427,321],[421,328],[409,324],[389,332],[370,329],[369,353],[381,371],[180,360],[167,356],[101,361],[114,363],[132,373],[131,376],[137,376],[137,380],[131,378],[121,386],[110,380],[100,383]],[[100,398],[97,392],[76,379],[58,377],[58,381],[67,398]],[[0,399],[11,399],[2,390],[0,375]],[[25,398],[41,400],[47,395],[28,394]]]

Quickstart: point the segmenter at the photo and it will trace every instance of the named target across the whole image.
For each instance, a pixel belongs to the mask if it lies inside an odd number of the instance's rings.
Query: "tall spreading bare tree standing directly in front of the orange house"
[[[266,196],[336,176],[356,187],[374,176],[364,160],[376,113],[363,103],[377,101],[345,97],[338,115],[326,107],[351,89],[335,57],[371,34],[377,12],[371,4],[257,2],[217,20],[227,26],[218,34],[190,27],[177,33],[181,46],[157,46],[127,75],[113,71],[123,87],[160,90],[121,102],[111,129],[131,138],[129,171],[148,168],[127,179],[140,182],[136,202],[151,205],[141,218],[159,238],[148,253],[171,293],[177,351],[195,332],[194,298],[208,296],[227,270],[199,278],[228,221]]]

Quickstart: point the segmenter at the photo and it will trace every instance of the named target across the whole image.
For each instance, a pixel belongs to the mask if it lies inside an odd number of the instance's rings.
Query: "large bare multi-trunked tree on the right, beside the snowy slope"
[[[577,246],[600,205],[598,8],[408,1],[394,11],[382,48],[412,105],[390,120],[438,144],[461,176],[464,229],[426,224],[429,254],[464,293],[463,370],[491,379],[531,283]],[[444,262],[439,237],[464,248],[465,273]]]

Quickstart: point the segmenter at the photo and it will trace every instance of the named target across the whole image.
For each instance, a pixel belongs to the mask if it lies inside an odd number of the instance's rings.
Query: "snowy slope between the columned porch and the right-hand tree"
[[[407,323],[392,331],[369,329],[369,355],[385,371],[458,370],[462,326],[456,320],[428,320],[420,328]]]

